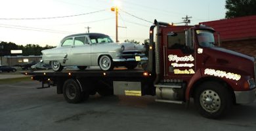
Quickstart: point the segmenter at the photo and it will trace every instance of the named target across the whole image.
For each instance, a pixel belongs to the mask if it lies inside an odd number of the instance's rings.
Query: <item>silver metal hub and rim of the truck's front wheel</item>
[[[200,95],[200,104],[209,113],[215,113],[221,108],[221,98],[213,90],[204,90]]]

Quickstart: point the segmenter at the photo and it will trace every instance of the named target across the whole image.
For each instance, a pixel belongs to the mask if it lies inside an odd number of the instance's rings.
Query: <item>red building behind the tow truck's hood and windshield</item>
[[[202,22],[219,32],[221,47],[256,57],[256,15]]]

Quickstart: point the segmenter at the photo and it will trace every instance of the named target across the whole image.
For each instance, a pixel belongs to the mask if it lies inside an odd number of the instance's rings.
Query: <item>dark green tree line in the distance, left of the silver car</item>
[[[3,48],[1,48],[3,47]],[[41,55],[41,50],[45,50],[47,48],[54,48],[53,46],[46,45],[45,47],[41,47],[39,45],[31,45],[28,44],[26,46],[23,45],[16,45],[15,43],[7,43],[4,41],[1,41],[0,43],[0,52],[1,56],[11,56],[11,50],[22,50],[22,54],[24,56],[29,56],[29,55],[35,55],[35,56],[40,56]]]

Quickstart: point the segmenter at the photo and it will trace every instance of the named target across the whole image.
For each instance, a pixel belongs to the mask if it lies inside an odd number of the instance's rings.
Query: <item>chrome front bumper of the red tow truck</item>
[[[256,88],[248,91],[234,91],[236,103],[253,103],[256,99]]]

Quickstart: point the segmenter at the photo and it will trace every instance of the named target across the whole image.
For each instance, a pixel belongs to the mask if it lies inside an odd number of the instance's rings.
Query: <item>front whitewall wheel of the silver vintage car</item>
[[[111,71],[114,69],[114,64],[110,56],[101,56],[100,60],[98,60],[98,65],[100,65],[100,69],[102,69],[102,71]]]

